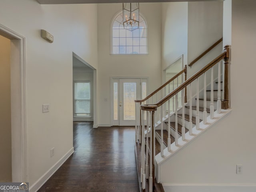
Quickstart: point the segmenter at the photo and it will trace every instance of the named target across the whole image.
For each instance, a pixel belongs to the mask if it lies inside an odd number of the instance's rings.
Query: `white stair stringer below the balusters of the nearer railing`
[[[200,129],[196,130],[196,127],[193,127],[193,135],[190,136],[189,132],[187,132],[186,140],[182,141],[182,138],[180,137],[178,139],[178,146],[175,146],[175,142],[171,144],[171,151],[168,151],[168,148],[164,149],[164,156],[162,157],[161,154],[157,154],[155,157],[155,173],[156,173],[156,180],[158,183],[161,183],[161,166],[168,161],[171,160],[171,158],[178,154],[178,152],[182,149],[184,149],[186,146],[188,146],[192,141],[196,140],[199,136],[202,136],[207,130],[214,127],[215,124],[217,124],[219,121],[221,121],[223,118],[228,116],[231,113],[232,109],[228,110],[221,110],[221,113],[218,114],[217,111],[214,112],[214,119],[211,119],[210,116],[207,117],[207,124],[203,124],[203,122],[200,122]]]

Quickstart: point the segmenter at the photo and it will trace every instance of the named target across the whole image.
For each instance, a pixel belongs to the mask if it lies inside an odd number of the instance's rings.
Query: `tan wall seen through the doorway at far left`
[[[10,47],[0,36],[0,182],[12,181]]]

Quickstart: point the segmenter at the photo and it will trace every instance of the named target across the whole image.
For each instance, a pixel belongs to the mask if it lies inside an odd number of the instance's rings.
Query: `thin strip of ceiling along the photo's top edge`
[[[37,0],[40,4],[130,3],[130,2],[189,2],[223,0]]]

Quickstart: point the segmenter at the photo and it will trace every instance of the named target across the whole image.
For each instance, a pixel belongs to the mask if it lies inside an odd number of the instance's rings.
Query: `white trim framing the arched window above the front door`
[[[143,18],[143,20],[145,21],[145,23],[146,23],[146,26],[147,26],[147,32],[146,32],[146,34],[147,34],[147,53],[143,53],[143,54],[113,54],[113,40],[112,40],[112,38],[113,38],[113,34],[112,34],[112,27],[113,27],[113,24],[114,24],[114,21],[115,21],[115,19],[116,19],[116,17],[119,15],[119,14],[121,14],[123,11],[119,11],[119,12],[117,12],[115,15],[114,15],[114,17],[112,18],[112,21],[111,21],[111,24],[110,24],[110,56],[128,56],[128,55],[132,55],[132,56],[134,56],[134,55],[138,55],[138,56],[143,56],[143,55],[148,55],[149,54],[149,51],[148,51],[148,23],[147,23],[147,20],[146,20],[146,17],[140,12],[140,17],[142,17]]]

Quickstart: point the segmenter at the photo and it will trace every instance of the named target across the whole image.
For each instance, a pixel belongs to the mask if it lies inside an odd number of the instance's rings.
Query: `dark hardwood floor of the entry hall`
[[[38,192],[138,192],[134,138],[134,127],[74,122],[74,154]]]

